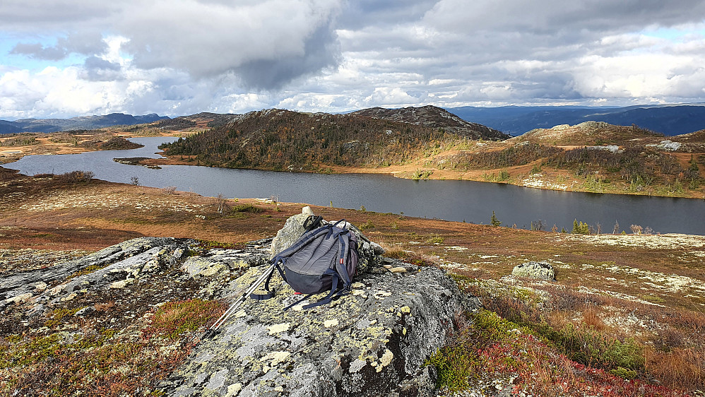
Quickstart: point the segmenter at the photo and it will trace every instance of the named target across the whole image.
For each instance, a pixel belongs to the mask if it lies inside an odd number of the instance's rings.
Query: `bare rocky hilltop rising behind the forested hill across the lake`
[[[382,107],[372,107],[358,110],[353,114],[368,116],[374,119],[391,120],[393,122],[404,122],[439,128],[453,134],[466,136],[471,139],[485,139],[490,141],[504,141],[511,136],[504,134],[482,124],[466,122],[460,117],[452,114],[446,109],[427,105],[422,107],[403,107],[401,109],[384,109]]]

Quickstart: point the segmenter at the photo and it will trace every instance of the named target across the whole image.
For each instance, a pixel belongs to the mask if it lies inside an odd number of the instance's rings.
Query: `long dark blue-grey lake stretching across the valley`
[[[30,155],[3,167],[28,175],[93,171],[96,178],[110,182],[130,183],[137,177],[144,186],[177,186],[178,190],[203,196],[274,196],[283,202],[316,206],[329,206],[332,201],[340,208],[365,206],[367,211],[471,223],[490,223],[494,211],[503,225],[521,228],[541,220],[547,230],[557,225],[570,231],[577,219],[593,226],[599,223],[603,232],[612,232],[618,221],[620,230],[627,232],[630,225],[641,225],[660,233],[705,235],[705,201],[699,199],[551,191],[457,180],[413,181],[386,174],[304,174],[191,165],[165,165],[153,170],[112,160],[158,158],[157,146],[173,140],[131,138],[145,147],[78,155]]]

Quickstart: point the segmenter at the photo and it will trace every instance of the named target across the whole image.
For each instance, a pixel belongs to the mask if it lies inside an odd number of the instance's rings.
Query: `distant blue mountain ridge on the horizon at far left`
[[[169,119],[155,113],[133,116],[124,113],[79,116],[70,119],[19,119],[14,122],[0,120],[0,134],[16,132],[57,132],[74,129],[99,129],[109,126],[144,124]]]

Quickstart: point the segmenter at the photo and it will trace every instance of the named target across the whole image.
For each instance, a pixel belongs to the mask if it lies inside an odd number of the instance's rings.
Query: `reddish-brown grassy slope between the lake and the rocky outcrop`
[[[220,215],[216,198],[97,180],[24,177],[4,170],[0,271],[28,266],[21,260],[26,251],[18,249],[70,256],[140,235],[246,242],[274,235],[301,208],[232,198],[226,203],[230,211]],[[248,205],[261,211],[247,211]],[[500,386],[567,396],[588,393],[588,386],[604,388],[605,396],[678,395],[658,385],[705,388],[705,237],[561,235],[313,209],[326,219],[346,218],[360,225],[390,256],[446,268],[463,290],[482,297],[490,312],[458,319],[456,342],[433,359],[442,369],[444,386],[492,388],[488,379],[505,379]],[[513,266],[529,260],[551,263],[557,282],[507,277]],[[188,288],[174,295],[174,300],[188,299]],[[105,304],[123,300],[130,302],[121,297]],[[76,304],[67,302],[66,310],[80,308]],[[11,329],[20,321],[6,320],[15,325],[6,328],[9,323],[3,323],[0,343],[12,347],[17,331]],[[65,329],[67,320],[62,321],[50,329]],[[183,359],[179,357],[164,360],[178,362]],[[652,386],[625,382],[610,372]]]

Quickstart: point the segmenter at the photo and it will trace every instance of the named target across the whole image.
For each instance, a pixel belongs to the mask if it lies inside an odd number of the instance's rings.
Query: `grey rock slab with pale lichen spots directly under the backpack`
[[[423,362],[446,343],[454,317],[479,302],[442,270],[394,264],[410,271],[372,268],[350,295],[309,310],[301,302],[283,312],[300,295],[273,279],[276,297],[244,304],[161,389],[172,396],[429,396],[435,375]],[[262,271],[244,273],[231,295]]]

